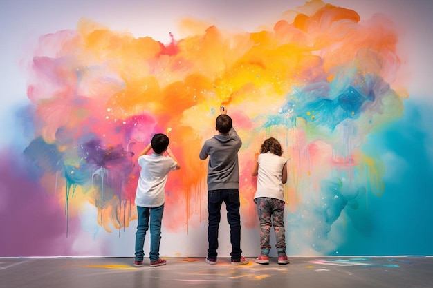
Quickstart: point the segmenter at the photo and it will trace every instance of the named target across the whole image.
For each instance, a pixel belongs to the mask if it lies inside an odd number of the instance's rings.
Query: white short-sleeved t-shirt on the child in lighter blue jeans
[[[165,183],[169,171],[177,163],[168,156],[151,153],[138,157],[141,166],[135,204],[140,207],[160,207],[165,202]]]

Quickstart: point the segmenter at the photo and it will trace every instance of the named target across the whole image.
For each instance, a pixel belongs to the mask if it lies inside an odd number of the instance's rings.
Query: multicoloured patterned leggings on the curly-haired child
[[[260,249],[269,253],[270,227],[274,227],[275,247],[278,251],[286,251],[286,231],[284,229],[284,201],[275,198],[256,198],[257,214],[260,221]]]

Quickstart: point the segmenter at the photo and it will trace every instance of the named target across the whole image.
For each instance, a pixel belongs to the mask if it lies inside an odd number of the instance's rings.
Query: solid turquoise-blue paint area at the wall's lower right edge
[[[369,135],[362,150],[387,167],[385,191],[345,210],[351,225],[340,255],[433,255],[432,111],[408,100],[403,118]]]

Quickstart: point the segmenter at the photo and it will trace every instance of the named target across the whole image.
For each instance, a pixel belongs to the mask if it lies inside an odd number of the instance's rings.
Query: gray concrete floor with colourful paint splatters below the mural
[[[205,258],[164,258],[133,267],[133,258],[0,258],[1,288],[97,287],[433,287],[433,257],[294,257],[291,264],[216,265]]]

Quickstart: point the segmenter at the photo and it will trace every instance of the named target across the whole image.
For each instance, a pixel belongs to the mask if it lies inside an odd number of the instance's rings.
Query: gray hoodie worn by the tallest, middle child
[[[234,128],[228,135],[219,134],[205,141],[200,159],[209,156],[208,190],[239,189],[239,162],[237,152],[242,140]]]

